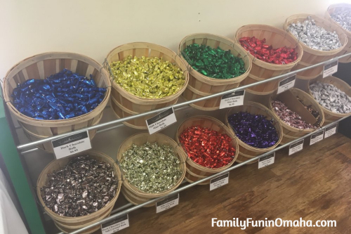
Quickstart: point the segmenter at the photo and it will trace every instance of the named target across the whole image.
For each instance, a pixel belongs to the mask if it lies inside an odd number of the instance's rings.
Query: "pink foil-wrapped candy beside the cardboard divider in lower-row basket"
[[[296,129],[315,129],[315,126],[307,124],[307,122],[301,119],[298,113],[289,110],[289,108],[280,100],[272,100],[272,106],[279,119],[282,119],[289,126]]]

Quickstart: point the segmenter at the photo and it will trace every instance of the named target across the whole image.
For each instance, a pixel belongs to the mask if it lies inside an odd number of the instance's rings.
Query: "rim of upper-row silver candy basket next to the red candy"
[[[310,14],[310,13],[300,13],[300,14],[290,15],[284,21],[283,27],[284,27],[284,30],[286,30],[286,32],[288,32],[291,35],[291,37],[296,39],[296,41],[297,41],[297,38],[288,30],[288,25],[289,25],[289,22],[291,22],[291,20],[293,20],[291,18],[297,17],[298,15],[303,16],[303,18],[307,18],[307,16],[311,16],[314,20],[321,20],[322,24],[324,24],[324,21],[326,20],[324,18],[321,18],[321,17],[319,17],[317,15]],[[340,27],[338,27],[338,25],[335,22],[330,22],[328,20],[326,20],[326,21],[331,24],[330,25],[331,28],[332,28],[332,26],[335,27],[335,29],[333,29],[334,31],[340,30]],[[319,51],[317,49],[310,48],[309,46],[304,44],[302,41],[298,41],[298,44],[300,44],[303,47],[303,51],[306,51],[307,53],[312,53],[312,54],[314,54],[314,53],[324,53],[323,56],[332,56],[332,55],[335,55],[336,53],[339,53],[340,51],[343,51],[343,49],[345,48],[345,46],[347,44],[347,36],[346,36],[345,32],[343,32],[342,34],[339,34],[338,32],[336,32],[336,33],[338,34],[340,42],[341,42],[342,37],[344,37],[345,41],[339,48],[336,48],[336,49],[331,50],[331,51]]]

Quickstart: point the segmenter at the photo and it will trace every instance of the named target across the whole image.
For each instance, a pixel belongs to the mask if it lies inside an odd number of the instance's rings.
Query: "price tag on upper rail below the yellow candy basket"
[[[174,115],[173,108],[169,108],[150,119],[146,119],[147,129],[149,134],[154,134],[157,131],[165,129],[167,126],[177,122],[176,115]]]

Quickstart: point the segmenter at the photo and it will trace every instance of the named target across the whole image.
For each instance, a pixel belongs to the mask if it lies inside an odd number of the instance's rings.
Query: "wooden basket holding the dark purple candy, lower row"
[[[269,120],[273,119],[273,125],[277,130],[277,134],[279,137],[277,143],[270,148],[255,148],[250,145],[247,145],[239,138],[237,138],[237,142],[239,143],[239,152],[241,153],[241,155],[245,155],[246,157],[256,157],[258,155],[262,155],[264,152],[268,152],[276,148],[279,145],[280,141],[282,141],[282,124],[280,124],[279,119],[272,113],[272,111],[270,111],[264,105],[261,105],[260,103],[244,102],[244,105],[238,105],[236,107],[230,108],[227,111],[227,114],[225,115],[225,124],[227,124],[227,126],[230,128],[230,131],[232,131],[233,133],[234,130],[228,122],[228,117],[237,112],[249,112],[253,115],[264,115]]]

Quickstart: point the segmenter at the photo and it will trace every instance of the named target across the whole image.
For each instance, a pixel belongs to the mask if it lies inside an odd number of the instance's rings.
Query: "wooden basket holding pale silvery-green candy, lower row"
[[[175,186],[173,186],[171,189],[164,191],[163,193],[145,193],[142,190],[139,190],[138,188],[135,188],[135,186],[131,185],[131,183],[128,182],[128,179],[124,179],[123,181],[123,186],[122,186],[122,193],[124,197],[126,197],[126,200],[130,201],[133,204],[141,204],[143,202],[146,202],[147,200],[151,200],[152,198],[156,197],[162,197],[164,195],[167,195],[168,193],[171,193],[173,190],[178,188],[180,186],[180,183],[182,183],[184,176],[185,176],[185,171],[186,171],[186,166],[185,166],[185,158],[180,151],[180,147],[177,145],[176,141],[173,141],[171,138],[164,134],[152,134],[150,135],[147,132],[143,132],[140,134],[134,134],[133,136],[130,136],[127,138],[123,143],[121,143],[121,146],[119,147],[119,150],[117,152],[117,160],[119,162],[123,162],[123,153],[128,150],[128,148],[131,148],[131,145],[143,145],[145,143],[158,143],[159,145],[171,145],[173,148],[175,154],[179,157],[180,160],[180,170],[182,171],[182,174],[178,180],[178,183],[176,183]],[[150,204],[152,206],[153,204]],[[146,207],[149,207],[147,205]]]

